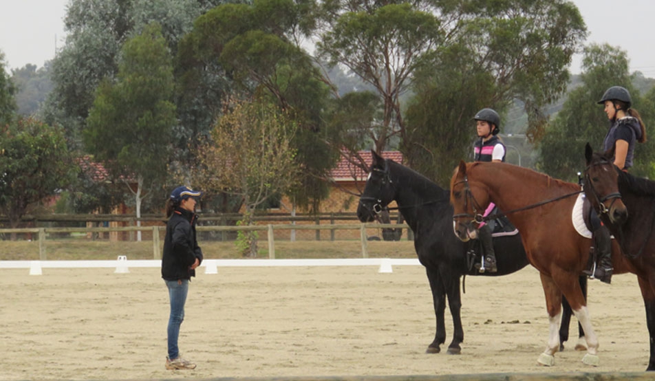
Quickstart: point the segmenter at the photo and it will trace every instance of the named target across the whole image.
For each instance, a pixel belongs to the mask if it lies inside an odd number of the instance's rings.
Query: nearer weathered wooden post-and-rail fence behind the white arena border
[[[197,226],[199,232],[245,232],[259,231],[266,232],[268,242],[268,258],[275,259],[275,231],[281,230],[330,230],[331,240],[334,241],[336,230],[358,230],[361,241],[362,258],[368,258],[367,252],[367,229],[407,229],[407,224],[334,224],[334,225],[294,225],[294,224],[267,224],[252,226]],[[166,230],[165,226],[124,226],[124,227],[102,227],[102,228],[23,228],[23,229],[0,229],[0,234],[36,234],[39,241],[39,260],[47,260],[47,236],[50,234],[71,234],[71,233],[109,233],[109,232],[152,232],[153,259],[161,259],[162,246],[160,235]],[[411,235],[407,239],[412,239]]]

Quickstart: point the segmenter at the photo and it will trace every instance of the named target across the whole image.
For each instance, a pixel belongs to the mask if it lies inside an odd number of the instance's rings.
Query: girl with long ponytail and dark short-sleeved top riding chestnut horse
[[[603,149],[608,151],[614,147],[614,165],[622,171],[627,171],[632,166],[636,142],[646,141],[643,120],[639,113],[632,108],[632,97],[625,87],[610,87],[605,91],[598,104],[605,106],[604,111],[611,122],[610,129],[603,141]],[[603,226],[593,210],[592,226],[594,228],[592,238],[597,257],[597,267],[593,275],[602,282],[610,283],[612,270],[614,270],[612,268],[610,232]],[[586,270],[585,274],[591,276],[591,270]]]

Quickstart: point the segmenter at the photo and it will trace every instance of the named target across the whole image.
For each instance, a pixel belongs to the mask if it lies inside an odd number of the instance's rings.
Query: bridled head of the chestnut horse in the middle
[[[460,161],[451,178],[453,229],[455,235],[464,242],[477,238],[477,229],[490,202],[486,187],[469,178],[472,165]]]

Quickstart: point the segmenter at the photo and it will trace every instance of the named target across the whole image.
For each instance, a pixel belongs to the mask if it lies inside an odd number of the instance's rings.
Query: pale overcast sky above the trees
[[[64,45],[63,17],[69,0],[0,0],[0,50],[7,69],[32,63],[43,66]],[[546,0],[547,1],[547,0]],[[655,78],[652,17],[655,0],[573,0],[587,24],[586,43],[619,46],[631,71]],[[580,72],[575,56],[571,71]]]

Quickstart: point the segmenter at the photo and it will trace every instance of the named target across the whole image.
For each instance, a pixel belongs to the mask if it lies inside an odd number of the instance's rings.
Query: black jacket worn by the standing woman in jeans
[[[169,218],[164,238],[162,256],[162,278],[167,281],[191,279],[195,270],[190,267],[199,259],[202,263],[202,250],[195,239],[197,215],[189,210],[177,208]]]

